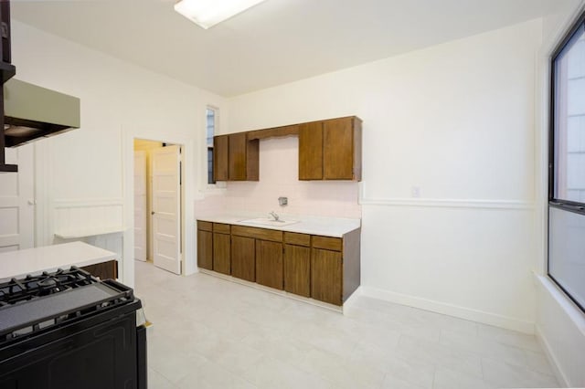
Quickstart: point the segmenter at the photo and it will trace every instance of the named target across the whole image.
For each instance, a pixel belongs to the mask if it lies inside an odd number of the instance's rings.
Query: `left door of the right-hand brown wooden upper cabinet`
[[[299,180],[323,180],[323,121],[299,126]]]

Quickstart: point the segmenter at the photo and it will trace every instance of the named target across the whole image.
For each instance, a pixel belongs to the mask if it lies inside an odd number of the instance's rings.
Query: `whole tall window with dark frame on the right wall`
[[[548,275],[585,310],[585,15],[551,65]]]

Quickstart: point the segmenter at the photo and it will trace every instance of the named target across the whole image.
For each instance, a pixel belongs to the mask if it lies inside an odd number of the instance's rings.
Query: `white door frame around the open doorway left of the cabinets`
[[[164,138],[164,140],[161,140]],[[124,199],[124,226],[122,282],[134,286],[134,139],[152,140],[180,145],[182,149],[182,185],[181,185],[181,242],[183,250],[182,275],[188,276],[197,272],[195,245],[195,193],[200,172],[196,168],[196,140],[153,132],[122,131],[122,191]]]

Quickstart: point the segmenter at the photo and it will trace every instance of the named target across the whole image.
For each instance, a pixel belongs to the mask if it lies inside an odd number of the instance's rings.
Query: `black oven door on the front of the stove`
[[[79,330],[82,322],[56,329],[59,337],[53,332],[16,343],[7,352],[12,356],[0,361],[0,388],[138,388],[135,310],[122,316],[109,311],[107,317],[80,331],[71,330]]]

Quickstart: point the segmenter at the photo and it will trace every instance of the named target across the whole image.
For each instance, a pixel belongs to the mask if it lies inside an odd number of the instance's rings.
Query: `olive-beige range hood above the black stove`
[[[80,99],[19,79],[5,82],[5,147],[77,128],[80,128]]]

